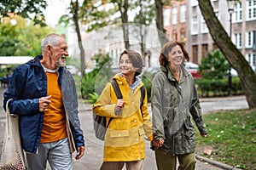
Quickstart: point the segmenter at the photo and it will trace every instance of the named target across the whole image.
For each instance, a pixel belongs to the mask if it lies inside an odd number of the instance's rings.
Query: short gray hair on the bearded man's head
[[[44,39],[41,42],[42,54],[44,53],[44,50],[47,47],[47,45],[51,45],[53,47],[58,45],[58,43],[60,42],[59,41],[60,37],[61,36],[59,34],[55,34],[55,33],[51,33],[48,36],[44,37]]]

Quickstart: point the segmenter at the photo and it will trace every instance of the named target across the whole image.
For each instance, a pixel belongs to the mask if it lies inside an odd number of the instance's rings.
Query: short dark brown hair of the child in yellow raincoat
[[[125,49],[125,51],[123,51],[120,54],[119,62],[120,62],[120,59],[123,56],[123,54],[128,54],[128,57],[131,60],[131,64],[134,67],[138,68],[138,70],[135,72],[135,77],[140,75],[143,72],[143,58],[142,58],[141,54],[137,53],[136,51],[130,50],[130,49]]]

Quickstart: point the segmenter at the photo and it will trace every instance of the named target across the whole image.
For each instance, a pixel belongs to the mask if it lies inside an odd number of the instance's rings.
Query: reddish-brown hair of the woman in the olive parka
[[[184,54],[184,59],[186,59],[186,61],[189,61],[189,53],[185,48],[185,42],[170,41],[170,42],[167,42],[161,49],[160,56],[159,56],[160,65],[166,66],[169,64],[168,54],[170,53],[170,51],[172,51],[172,48],[174,48],[177,45],[182,49]]]

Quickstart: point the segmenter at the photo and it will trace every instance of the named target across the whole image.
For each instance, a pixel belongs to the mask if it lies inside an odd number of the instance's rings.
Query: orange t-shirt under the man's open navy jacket
[[[40,143],[55,142],[67,138],[66,115],[62,102],[61,87],[55,72],[46,72],[47,95],[51,95],[48,111],[44,111],[44,123]]]

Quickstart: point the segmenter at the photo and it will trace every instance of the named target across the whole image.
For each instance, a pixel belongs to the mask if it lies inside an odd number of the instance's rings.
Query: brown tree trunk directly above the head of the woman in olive
[[[158,37],[160,39],[161,46],[165,45],[168,42],[168,38],[166,37],[166,30],[164,28],[164,21],[163,21],[163,3],[162,0],[155,0],[155,11],[156,11],[156,27],[158,32]]]

